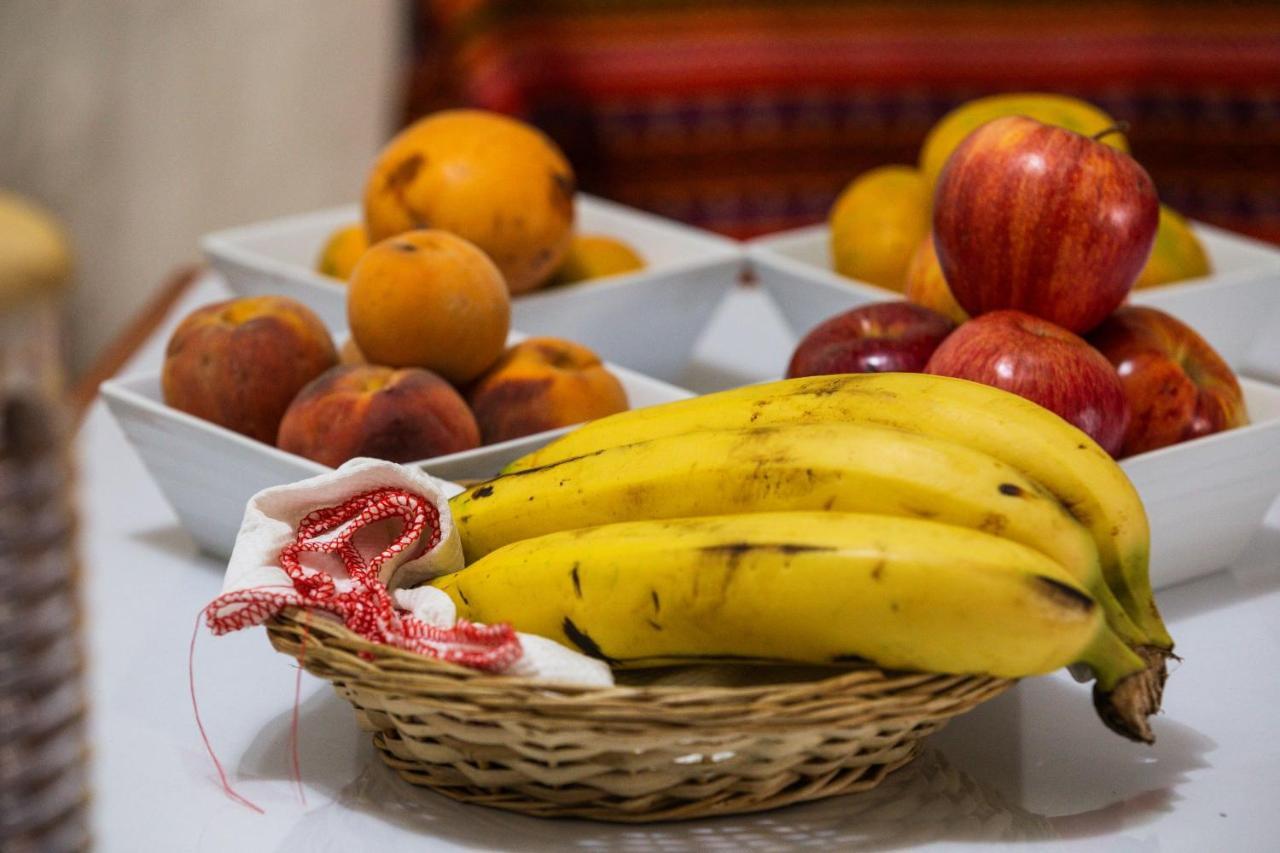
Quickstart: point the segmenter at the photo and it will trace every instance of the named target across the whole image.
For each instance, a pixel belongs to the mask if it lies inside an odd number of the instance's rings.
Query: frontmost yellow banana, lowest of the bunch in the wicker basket
[[[1032,548],[937,521],[842,512],[630,521],[515,542],[433,583],[465,619],[509,621],[613,666],[861,660],[1021,678],[1085,662],[1103,720],[1149,738],[1151,708],[1125,690],[1144,663],[1088,592]]]

